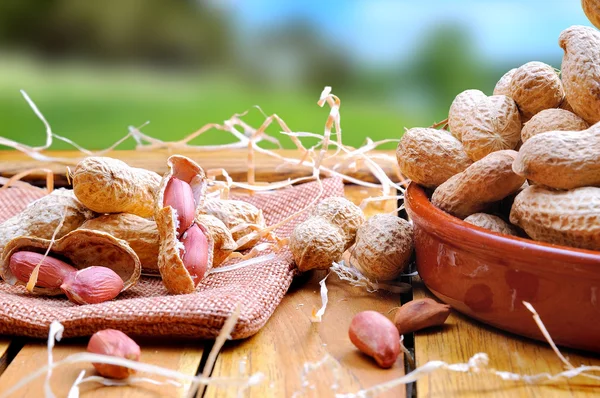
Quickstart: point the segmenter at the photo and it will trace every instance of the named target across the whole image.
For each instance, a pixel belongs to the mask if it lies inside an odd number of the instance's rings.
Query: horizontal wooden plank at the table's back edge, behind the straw
[[[274,152],[292,159],[299,160],[301,157],[300,152],[290,149],[276,150]],[[103,156],[121,159],[133,167],[141,167],[163,174],[167,169],[166,160],[173,153],[175,152],[169,152],[167,150],[112,151]],[[220,150],[211,152],[177,150],[176,153],[194,159],[205,170],[224,168],[235,181],[247,181],[248,155],[246,150]],[[47,154],[48,156],[65,158],[66,160],[63,162],[41,162],[39,160],[31,159],[21,152],[0,151],[0,176],[11,177],[24,170],[48,168],[54,173],[56,186],[68,185],[66,179],[66,167],[70,166],[72,168],[77,164],[77,158],[81,158],[82,154],[75,151],[50,151],[47,152]],[[378,163],[391,178],[397,180],[398,177],[392,167],[396,162],[395,152],[378,151],[378,154],[380,156],[387,156],[389,161],[379,160]],[[332,167],[337,162],[340,162],[339,157],[337,159],[326,159],[323,165]],[[349,176],[363,181],[376,181],[368,168],[364,167],[364,165],[356,170],[349,167],[349,165],[341,165],[337,171],[340,173],[347,173]],[[310,176],[312,175],[312,169],[297,164],[284,164],[275,157],[257,153],[255,154],[255,173],[257,181],[281,181],[287,178]],[[45,175],[39,172],[34,173],[24,178],[24,181],[29,181],[35,185],[43,185]]]

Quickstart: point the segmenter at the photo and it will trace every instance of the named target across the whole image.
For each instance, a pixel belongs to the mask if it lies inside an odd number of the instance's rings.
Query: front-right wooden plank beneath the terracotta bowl
[[[413,284],[414,297],[433,297],[422,282]],[[533,322],[533,319],[532,319]],[[582,351],[562,349],[574,366],[600,365],[600,357]],[[518,374],[551,374],[565,370],[548,344],[484,325],[453,312],[443,328],[415,333],[417,366],[428,361],[465,363],[484,352],[490,368]],[[503,381],[492,375],[438,371],[417,382],[418,397],[597,397],[600,382],[579,377],[552,385],[528,385]]]

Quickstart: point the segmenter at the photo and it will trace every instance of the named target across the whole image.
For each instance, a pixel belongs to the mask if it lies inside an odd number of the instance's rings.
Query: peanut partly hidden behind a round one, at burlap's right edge
[[[365,215],[360,207],[343,197],[323,199],[312,211],[311,216],[322,217],[340,228],[346,240],[344,251],[352,246],[356,238],[356,231],[365,221]]]

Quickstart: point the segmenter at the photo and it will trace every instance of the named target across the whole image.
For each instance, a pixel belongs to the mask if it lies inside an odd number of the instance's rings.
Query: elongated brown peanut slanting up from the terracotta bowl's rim
[[[463,219],[483,211],[518,191],[525,182],[512,171],[516,156],[517,152],[511,150],[490,153],[440,185],[431,203]]]

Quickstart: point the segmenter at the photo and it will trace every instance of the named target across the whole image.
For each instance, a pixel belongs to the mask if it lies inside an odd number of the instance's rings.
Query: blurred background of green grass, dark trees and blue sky
[[[330,85],[344,142],[359,146],[444,119],[460,91],[491,94],[527,61],[560,68],[558,35],[574,24],[589,25],[574,0],[3,0],[0,135],[45,142],[19,89],[90,149],[146,121],[144,133],[181,139],[254,105],[322,133],[316,102]],[[193,143],[231,141],[213,131]]]

